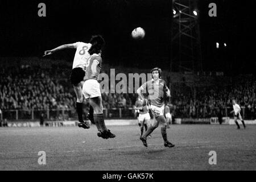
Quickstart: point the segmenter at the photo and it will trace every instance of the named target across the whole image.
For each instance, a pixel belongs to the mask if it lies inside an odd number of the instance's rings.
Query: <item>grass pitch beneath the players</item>
[[[0,170],[256,170],[256,126],[171,125],[163,146],[160,128],[144,147],[139,126],[109,126],[114,139],[98,138],[96,127],[0,128]],[[46,152],[46,165],[38,152]],[[217,164],[208,155],[216,151]]]

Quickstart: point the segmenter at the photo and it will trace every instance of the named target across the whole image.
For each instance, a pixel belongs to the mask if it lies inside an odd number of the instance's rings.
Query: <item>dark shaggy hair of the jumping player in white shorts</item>
[[[88,52],[90,55],[93,55],[93,53],[100,53],[105,46],[105,40],[101,35],[93,35],[90,39],[90,44],[92,44],[92,47],[90,47]]]

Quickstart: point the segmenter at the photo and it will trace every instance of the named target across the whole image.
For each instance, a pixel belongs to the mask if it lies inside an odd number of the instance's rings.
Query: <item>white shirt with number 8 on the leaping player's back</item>
[[[86,44],[84,42],[73,43],[73,46],[76,48],[76,54],[73,61],[74,68],[86,68],[89,65],[90,54],[88,53],[92,44]]]

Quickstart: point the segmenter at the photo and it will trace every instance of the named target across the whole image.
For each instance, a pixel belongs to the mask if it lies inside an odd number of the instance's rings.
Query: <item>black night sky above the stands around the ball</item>
[[[38,3],[47,6],[46,18],[38,17]],[[208,16],[210,2],[217,4],[217,18]],[[221,69],[224,62],[230,69],[255,69],[253,47],[255,22],[253,0],[201,0],[200,31],[205,69]],[[168,67],[171,48],[172,5],[166,0],[68,0],[68,1],[3,1],[1,0],[0,56],[42,56],[43,51],[65,43],[87,42],[92,34],[106,40],[102,55],[113,65],[151,68]],[[130,32],[143,27],[141,41],[131,39]],[[215,42],[228,47],[215,48]],[[72,61],[75,50],[56,53],[54,59]],[[220,58],[221,57],[221,58]],[[225,61],[223,61],[225,59]],[[218,60],[218,61],[216,61]],[[227,60],[227,61],[226,61]],[[147,64],[145,63],[147,61]],[[249,70],[251,72],[251,70]]]

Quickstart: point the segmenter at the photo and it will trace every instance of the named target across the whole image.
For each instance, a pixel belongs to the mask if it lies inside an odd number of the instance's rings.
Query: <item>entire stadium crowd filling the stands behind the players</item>
[[[69,69],[52,67],[2,67],[0,68],[0,108],[10,109],[75,109],[76,97],[69,84]],[[216,112],[224,112],[232,107],[231,100],[236,98],[246,112],[255,118],[254,78],[240,80],[225,88],[199,88],[196,96],[189,92],[176,92],[171,88],[172,112],[180,117],[210,117]],[[102,94],[102,104],[106,109],[133,107],[137,94]],[[215,112],[215,113],[214,113]],[[223,115],[225,113],[222,113]]]

